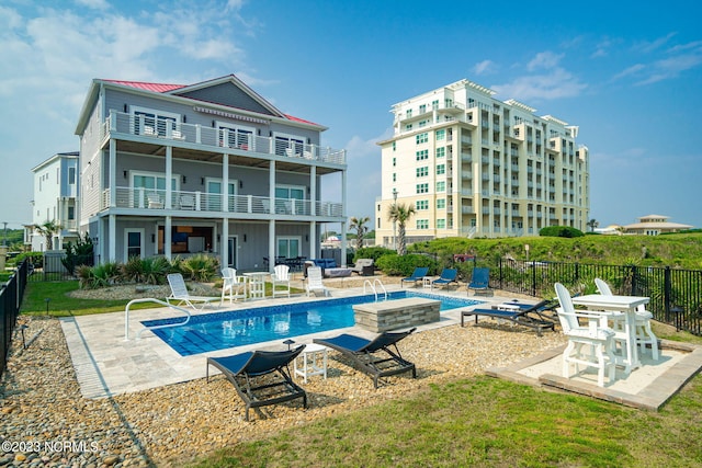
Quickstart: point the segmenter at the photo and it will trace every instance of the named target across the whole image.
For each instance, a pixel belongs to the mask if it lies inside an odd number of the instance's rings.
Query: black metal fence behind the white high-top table
[[[614,294],[646,296],[646,308],[658,321],[702,335],[702,271],[669,266],[591,265],[582,263],[500,260],[490,286],[530,296],[554,294],[554,283],[571,293],[597,293],[595,278],[608,282]]]

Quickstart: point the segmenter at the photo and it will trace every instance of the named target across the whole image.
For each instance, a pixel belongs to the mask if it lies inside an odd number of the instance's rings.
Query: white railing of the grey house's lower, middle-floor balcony
[[[115,207],[117,208],[154,210],[171,209],[184,212],[183,215],[188,212],[208,212],[217,214],[228,212],[233,214],[313,216],[312,208],[314,205],[315,216],[343,216],[342,204],[336,202],[271,198],[268,196],[256,195],[227,195],[227,206],[225,206],[223,205],[222,194],[172,191],[169,207],[165,190],[116,187],[115,191]],[[110,207],[110,189],[103,191],[100,205],[101,209],[106,209],[107,207]]]

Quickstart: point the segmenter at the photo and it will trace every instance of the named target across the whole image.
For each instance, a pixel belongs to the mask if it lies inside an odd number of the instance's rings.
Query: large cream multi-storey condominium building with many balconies
[[[586,230],[588,150],[578,127],[468,80],[397,103],[380,141],[383,186],[376,239],[394,246],[389,207],[414,205],[408,242],[441,237],[536,236],[546,226]]]

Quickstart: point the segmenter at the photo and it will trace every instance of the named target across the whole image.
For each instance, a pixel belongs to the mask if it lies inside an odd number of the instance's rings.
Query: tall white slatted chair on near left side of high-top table
[[[556,295],[561,307],[558,320],[563,334],[568,336],[568,345],[563,352],[563,376],[570,377],[570,364],[575,365],[576,375],[580,373],[579,366],[595,367],[597,385],[604,387],[604,370],[608,380],[614,381],[616,363],[614,362],[614,331],[602,327],[603,312],[588,312],[575,310],[570,293],[561,283],[556,283]],[[616,312],[607,312],[616,315]],[[580,319],[587,320],[587,326],[580,324]]]

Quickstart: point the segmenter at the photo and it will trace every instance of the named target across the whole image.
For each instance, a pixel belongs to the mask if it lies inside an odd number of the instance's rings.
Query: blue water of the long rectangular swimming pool
[[[423,297],[441,300],[441,310],[480,304],[478,300],[446,297],[416,292],[388,293],[388,299]],[[152,330],[181,356],[225,350],[246,344],[317,333],[354,326],[353,305],[372,303],[374,295],[328,300],[258,307],[246,310],[213,312],[193,316],[182,327]],[[183,321],[182,317],[145,320],[145,327],[157,327]]]

